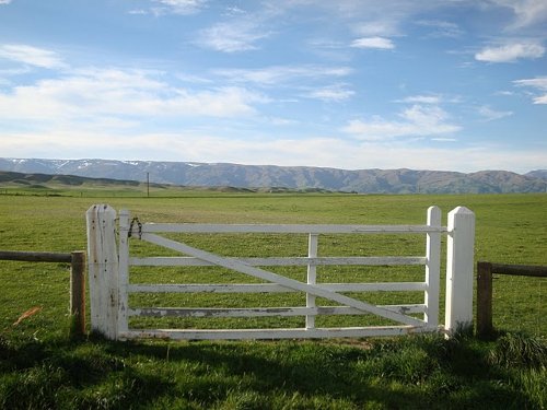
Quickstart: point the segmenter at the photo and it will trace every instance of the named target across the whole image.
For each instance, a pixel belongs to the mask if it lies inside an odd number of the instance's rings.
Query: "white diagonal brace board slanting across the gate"
[[[305,293],[310,293],[310,294],[313,294],[315,296],[325,297],[325,298],[328,298],[330,301],[338,302],[342,305],[354,307],[359,311],[369,312],[369,313],[385,317],[385,318],[391,319],[391,320],[404,323],[405,325],[411,325],[411,326],[416,326],[416,327],[423,327],[426,325],[420,319],[417,319],[417,318],[414,318],[414,317],[410,317],[407,315],[398,314],[398,313],[395,313],[393,311],[388,311],[388,309],[385,309],[382,307],[377,307],[375,305],[371,305],[370,303],[361,302],[361,301],[341,295],[337,292],[333,292],[333,291],[328,291],[326,289],[317,288],[313,284],[302,283],[298,280],[286,278],[283,276],[280,276],[280,274],[277,274],[274,272],[269,272],[269,271],[264,270],[264,269],[255,268],[253,266],[249,266],[247,263],[241,262],[241,261],[235,260],[235,259],[223,258],[221,256],[208,253],[206,250],[197,249],[197,248],[194,248],[194,247],[188,246],[186,244],[183,244],[183,243],[179,243],[176,241],[172,241],[172,239],[167,239],[167,238],[160,236],[160,235],[143,233],[142,239],[147,241],[147,242],[151,242],[155,245],[166,247],[166,248],[172,249],[172,250],[176,250],[176,251],[179,251],[179,253],[183,253],[186,255],[194,256],[196,258],[199,258],[201,260],[206,260],[208,262],[211,262],[211,263],[217,265],[217,266],[221,266],[221,267],[226,268],[226,269],[235,270],[235,271],[248,274],[251,277],[263,279],[263,280],[266,280],[269,282],[278,283],[278,284],[283,285],[286,288],[294,289],[296,291],[301,291],[301,292],[305,292]]]

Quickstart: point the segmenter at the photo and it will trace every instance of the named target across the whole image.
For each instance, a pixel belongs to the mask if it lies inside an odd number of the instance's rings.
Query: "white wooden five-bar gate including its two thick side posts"
[[[444,328],[450,332],[473,321],[473,248],[475,216],[458,207],[449,214],[447,227],[441,225],[438,207],[428,209],[424,225],[260,225],[260,224],[188,224],[141,223],[131,220],[128,211],[116,211],[97,204],[88,211],[88,250],[92,330],[109,339],[140,337],[172,339],[278,339],[393,336],[408,332],[439,330],[439,292],[441,265],[441,235],[447,233],[446,251],[446,316]],[[233,258],[198,249],[160,233],[209,234],[306,234],[309,254],[303,257]],[[116,234],[119,235],[117,246]],[[398,257],[319,257],[318,236],[322,234],[424,234],[423,256]],[[179,257],[132,257],[129,241],[135,238],[168,248]],[[423,280],[419,282],[387,283],[316,283],[316,269],[321,266],[424,266]],[[255,284],[135,284],[129,282],[131,266],[217,266],[260,279],[267,283]],[[307,280],[301,282],[266,267],[304,266]],[[411,305],[374,305],[349,297],[344,292],[404,292],[422,291],[423,303]],[[270,293],[303,292],[305,306],[260,308],[137,308],[128,304],[130,293]],[[317,306],[316,297],[336,303],[336,306]],[[395,326],[336,327],[315,326],[318,315],[373,314],[397,323]],[[418,314],[418,315],[417,315]],[[275,329],[130,329],[131,316],[182,317],[257,317],[305,316],[304,328]],[[418,316],[421,316],[419,318]]]

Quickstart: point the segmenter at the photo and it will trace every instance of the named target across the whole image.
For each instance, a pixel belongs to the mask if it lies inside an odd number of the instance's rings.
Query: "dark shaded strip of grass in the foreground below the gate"
[[[477,342],[478,343],[478,342]],[[0,350],[0,408],[525,409],[485,344],[442,337],[28,342]]]

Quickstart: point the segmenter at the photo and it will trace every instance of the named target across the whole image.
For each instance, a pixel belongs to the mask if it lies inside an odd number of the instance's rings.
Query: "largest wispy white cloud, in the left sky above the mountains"
[[[266,98],[243,87],[185,90],[146,71],[80,70],[73,75],[0,92],[0,118],[15,121],[82,121],[125,117],[141,120],[165,117],[230,118],[255,114],[253,104]]]

